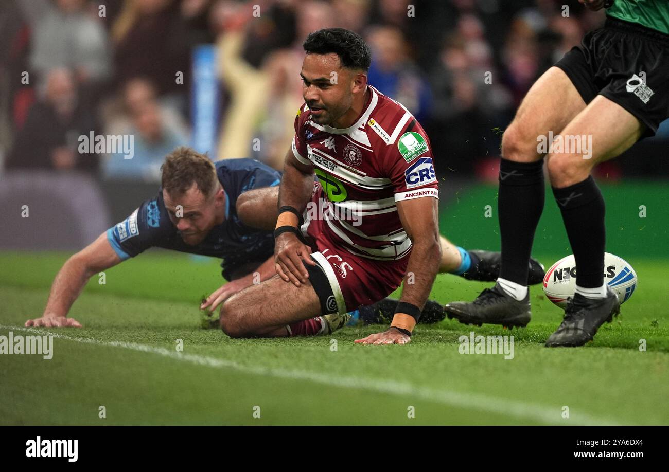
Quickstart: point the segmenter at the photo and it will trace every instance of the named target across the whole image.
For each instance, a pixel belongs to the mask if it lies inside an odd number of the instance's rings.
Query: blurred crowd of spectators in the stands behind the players
[[[281,168],[302,41],[346,27],[372,49],[369,83],[423,124],[440,170],[485,176],[533,82],[603,19],[577,0],[2,0],[0,163],[157,179],[191,143],[192,52],[211,44],[211,158]],[[132,159],[80,152],[91,132],[134,136]]]

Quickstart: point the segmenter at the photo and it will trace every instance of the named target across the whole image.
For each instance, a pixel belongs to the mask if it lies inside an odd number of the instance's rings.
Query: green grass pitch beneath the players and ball
[[[548,266],[562,255],[539,259]],[[66,257],[0,253],[0,335],[27,334],[19,327],[41,316]],[[91,279],[72,309],[84,328],[39,331],[57,336],[52,360],[0,356],[0,423],[666,425],[669,261],[626,259],[638,289],[583,348],[543,347],[562,312],[540,287],[522,330],[446,320],[419,326],[407,346],[358,346],[381,326],[269,340],[202,330],[199,296],[219,286],[217,261],[149,251],[108,270],[105,285]],[[432,298],[470,300],[486,286],[439,275]],[[513,335],[514,358],[460,354],[458,337],[472,329]]]

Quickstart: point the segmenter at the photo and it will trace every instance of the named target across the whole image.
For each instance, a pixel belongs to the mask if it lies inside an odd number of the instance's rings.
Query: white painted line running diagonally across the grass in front
[[[64,328],[66,329],[66,328]],[[175,360],[191,362],[201,366],[209,366],[220,369],[231,369],[245,374],[254,374],[259,376],[272,376],[288,380],[308,380],[319,384],[341,387],[358,388],[362,390],[371,390],[373,392],[386,393],[399,396],[411,396],[421,398],[436,403],[448,404],[460,408],[471,408],[494,415],[514,417],[516,419],[529,419],[549,425],[617,425],[611,419],[596,418],[589,415],[580,415],[579,418],[571,418],[565,421],[561,418],[561,405],[553,408],[538,404],[530,404],[508,400],[506,398],[497,398],[478,393],[460,393],[436,388],[425,388],[412,385],[408,382],[397,382],[396,380],[383,380],[378,378],[359,378],[339,376],[332,374],[321,374],[318,372],[308,372],[306,370],[287,370],[283,368],[272,368],[266,366],[248,366],[240,364],[233,360],[221,358],[199,356],[197,354],[184,354],[167,348],[157,348],[147,344],[137,344],[135,342],[124,341],[99,341],[93,338],[78,338],[76,336],[65,336],[60,332],[41,330],[39,328],[25,328],[24,326],[1,326],[0,330],[17,330],[34,332],[37,334],[52,335],[54,338],[81,342],[84,344],[95,344],[96,346],[110,346],[114,348],[125,348],[140,352],[149,352],[159,356],[169,357]]]

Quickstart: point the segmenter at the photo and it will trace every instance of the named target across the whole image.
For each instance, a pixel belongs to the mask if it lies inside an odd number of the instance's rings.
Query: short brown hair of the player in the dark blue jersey
[[[204,154],[185,146],[167,154],[161,170],[161,184],[169,195],[183,195],[195,183],[199,191],[209,197],[217,187],[218,178],[213,162]]]

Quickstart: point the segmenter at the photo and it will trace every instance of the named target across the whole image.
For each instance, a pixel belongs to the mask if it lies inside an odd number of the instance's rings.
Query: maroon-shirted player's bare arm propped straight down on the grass
[[[398,310],[404,302],[416,307],[417,314],[419,314],[427,302],[442,259],[442,248],[439,242],[438,200],[425,197],[398,201],[397,211],[413,246],[411,255],[409,255]],[[415,323],[416,320],[412,314],[397,312],[391,322],[391,328],[355,342],[407,344],[411,340],[410,334],[407,333],[411,333]]]

